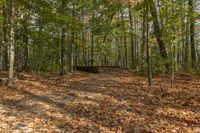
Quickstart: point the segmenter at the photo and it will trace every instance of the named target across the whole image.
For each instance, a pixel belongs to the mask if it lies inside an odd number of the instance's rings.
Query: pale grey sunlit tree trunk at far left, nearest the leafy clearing
[[[8,86],[13,86],[14,83],[14,0],[10,0],[10,63],[9,63],[9,74],[8,74]]]

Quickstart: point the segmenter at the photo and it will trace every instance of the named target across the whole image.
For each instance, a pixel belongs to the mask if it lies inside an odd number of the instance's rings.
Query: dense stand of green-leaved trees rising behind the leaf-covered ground
[[[2,70],[64,75],[78,65],[116,65],[175,75],[197,68],[195,1],[13,1],[14,13],[11,1],[0,3]]]

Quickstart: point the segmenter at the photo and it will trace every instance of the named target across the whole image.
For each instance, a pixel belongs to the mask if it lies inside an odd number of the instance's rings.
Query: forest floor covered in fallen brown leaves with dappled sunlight
[[[200,133],[200,77],[155,78],[129,71],[65,77],[21,74],[0,86],[0,133]]]

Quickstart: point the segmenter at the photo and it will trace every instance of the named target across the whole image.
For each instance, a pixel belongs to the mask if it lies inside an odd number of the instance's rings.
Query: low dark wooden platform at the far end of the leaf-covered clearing
[[[89,72],[89,73],[103,73],[103,72],[116,72],[122,70],[118,66],[77,66],[77,71]]]

